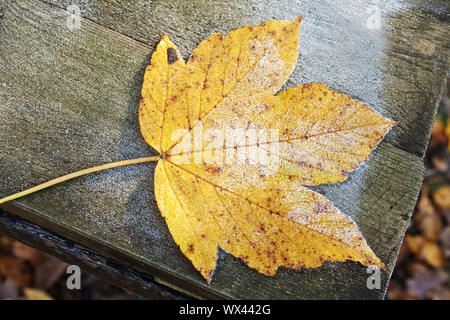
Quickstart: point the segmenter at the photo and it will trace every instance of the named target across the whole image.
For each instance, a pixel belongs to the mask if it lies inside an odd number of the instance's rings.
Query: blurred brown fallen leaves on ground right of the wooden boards
[[[425,179],[397,258],[389,299],[450,300],[450,81],[424,163]]]

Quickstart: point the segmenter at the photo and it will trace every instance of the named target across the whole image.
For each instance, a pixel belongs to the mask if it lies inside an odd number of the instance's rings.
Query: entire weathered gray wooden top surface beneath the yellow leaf
[[[71,3],[0,0],[0,196],[155,154],[139,133],[137,108],[144,68],[163,33],[187,58],[216,31],[302,15],[299,61],[285,88],[325,82],[400,121],[347,181],[315,188],[358,223],[387,266],[382,286],[368,289],[367,269],[357,263],[265,277],[223,251],[206,284],[159,214],[154,164],[86,176],[7,203],[6,210],[203,297],[384,296],[448,71],[446,1],[91,0],[77,2],[81,29],[70,30]],[[376,8],[379,29],[368,27]]]

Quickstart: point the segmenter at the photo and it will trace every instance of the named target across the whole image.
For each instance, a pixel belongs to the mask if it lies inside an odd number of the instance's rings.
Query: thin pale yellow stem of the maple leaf
[[[58,178],[55,178],[53,180],[44,182],[42,184],[39,184],[35,187],[14,193],[10,196],[7,196],[5,198],[0,199],[0,204],[5,203],[7,201],[11,201],[14,199],[18,199],[21,198],[23,196],[29,195],[31,193],[34,193],[36,191],[40,191],[42,189],[46,189],[48,187],[54,186],[55,184],[73,179],[73,178],[77,178],[77,177],[81,177],[84,176],[88,173],[93,173],[93,172],[97,172],[97,171],[102,171],[102,170],[106,170],[106,169],[111,169],[111,168],[116,168],[116,167],[122,167],[122,166],[127,166],[130,164],[137,164],[137,163],[146,163],[146,162],[152,162],[152,161],[158,161],[161,159],[160,155],[157,156],[151,156],[151,157],[144,157],[144,158],[136,158],[136,159],[129,159],[129,160],[123,160],[123,161],[117,161],[117,162],[111,162],[111,163],[106,163],[106,164],[102,164],[99,166],[95,166],[95,167],[91,167],[88,169],[84,169],[84,170],[80,170],[80,171],[76,171],[76,172],[72,172],[69,174],[66,174],[65,176],[61,176]]]

